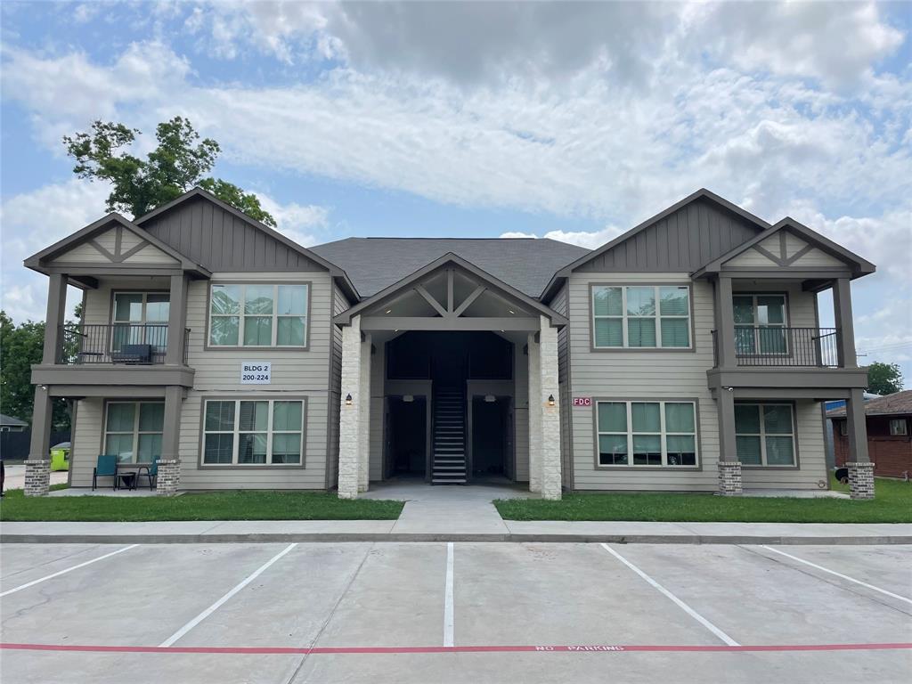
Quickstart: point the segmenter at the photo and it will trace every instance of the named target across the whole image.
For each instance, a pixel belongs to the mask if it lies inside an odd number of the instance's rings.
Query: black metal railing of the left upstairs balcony
[[[186,364],[190,328],[185,328],[183,334],[183,363]],[[168,325],[163,323],[61,326],[57,363],[121,363],[133,366],[162,364],[168,351],[168,337]]]

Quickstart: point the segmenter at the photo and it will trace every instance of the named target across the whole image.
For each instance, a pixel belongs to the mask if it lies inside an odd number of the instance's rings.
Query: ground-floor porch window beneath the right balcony
[[[791,404],[735,404],[735,444],[744,465],[795,464]]]

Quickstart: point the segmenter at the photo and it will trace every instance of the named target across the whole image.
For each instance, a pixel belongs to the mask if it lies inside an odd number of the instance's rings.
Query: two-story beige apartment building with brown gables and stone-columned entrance
[[[850,282],[875,267],[701,190],[589,251],[552,240],[349,238],[306,249],[193,190],[26,260],[49,277],[26,493],[50,401],[71,484],[99,454],[160,492],[484,478],[534,492],[827,486],[845,399],[873,495]],[[83,317],[65,324],[67,285]],[[832,289],[835,325],[816,296]]]

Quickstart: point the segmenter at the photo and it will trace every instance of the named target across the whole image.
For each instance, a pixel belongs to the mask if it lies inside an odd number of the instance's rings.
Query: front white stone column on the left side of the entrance
[[[351,324],[342,328],[342,402],[339,411],[339,482],[340,499],[358,497],[358,450],[360,448],[361,413],[361,316],[352,316]],[[346,397],[351,395],[351,403]]]

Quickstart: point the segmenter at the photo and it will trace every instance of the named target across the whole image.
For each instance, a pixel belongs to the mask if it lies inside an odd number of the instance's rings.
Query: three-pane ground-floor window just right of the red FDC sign
[[[693,401],[596,401],[598,465],[696,466]]]

